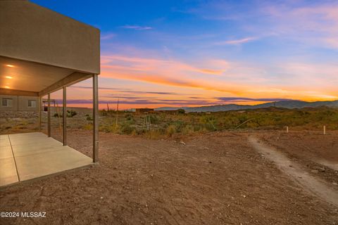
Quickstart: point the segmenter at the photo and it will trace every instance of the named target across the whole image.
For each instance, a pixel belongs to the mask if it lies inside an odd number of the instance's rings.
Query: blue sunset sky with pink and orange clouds
[[[338,99],[338,1],[32,2],[101,30],[100,108]]]

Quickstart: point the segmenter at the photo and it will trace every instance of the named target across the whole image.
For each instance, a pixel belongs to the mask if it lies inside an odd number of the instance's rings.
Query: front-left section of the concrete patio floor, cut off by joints
[[[13,158],[0,159],[0,186],[18,182]]]

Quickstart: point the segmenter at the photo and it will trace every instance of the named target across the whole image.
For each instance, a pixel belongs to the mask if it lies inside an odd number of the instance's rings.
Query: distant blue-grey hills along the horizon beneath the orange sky
[[[338,108],[338,101],[277,101],[274,103],[263,103],[258,105],[236,105],[236,104],[227,104],[227,105],[209,105],[209,106],[200,106],[200,107],[181,107],[186,112],[219,112],[219,111],[229,111],[229,110],[246,110],[246,109],[255,109],[255,108],[268,108],[275,106],[278,108],[315,108],[320,106],[327,106],[332,108]],[[179,108],[175,107],[162,107],[156,108],[155,110],[177,110]]]

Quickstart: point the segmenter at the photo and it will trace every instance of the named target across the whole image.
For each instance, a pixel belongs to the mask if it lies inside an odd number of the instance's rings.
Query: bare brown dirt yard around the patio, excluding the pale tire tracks
[[[91,156],[91,133],[68,133],[69,145]],[[221,132],[176,140],[102,133],[99,165],[1,188],[0,211],[46,218],[0,224],[338,224],[336,205],[304,190],[248,136],[338,191],[337,170],[317,162],[337,164],[338,133]]]

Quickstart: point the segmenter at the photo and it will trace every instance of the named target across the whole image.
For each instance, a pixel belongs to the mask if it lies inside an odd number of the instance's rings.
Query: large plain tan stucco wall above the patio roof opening
[[[0,1],[0,34],[0,56],[100,73],[99,29],[30,1]]]

